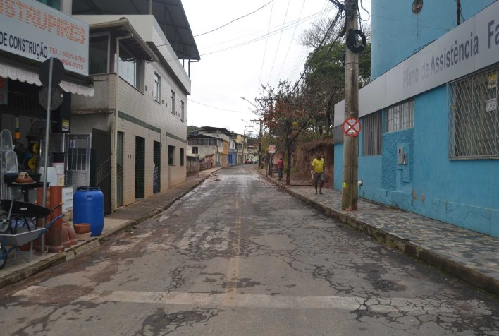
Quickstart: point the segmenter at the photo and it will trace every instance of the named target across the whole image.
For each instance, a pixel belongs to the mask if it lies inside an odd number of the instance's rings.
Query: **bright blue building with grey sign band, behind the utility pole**
[[[372,0],[359,197],[499,237],[499,2],[462,1],[460,20],[455,0]],[[336,104],[338,190],[344,111]]]

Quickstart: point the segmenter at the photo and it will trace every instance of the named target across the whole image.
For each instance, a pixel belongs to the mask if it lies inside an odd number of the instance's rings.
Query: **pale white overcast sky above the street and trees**
[[[262,83],[276,87],[279,79],[294,82],[300,78],[307,54],[312,52],[298,43],[300,36],[315,20],[336,13],[329,0],[182,3],[201,55],[201,61],[190,66],[187,125],[223,127],[240,134],[248,124],[259,128],[250,121],[256,119],[254,108],[240,97],[254,103],[255,97],[261,97]],[[362,4],[371,11],[370,0]],[[222,25],[226,26],[216,30]],[[256,132],[248,127],[247,131]]]

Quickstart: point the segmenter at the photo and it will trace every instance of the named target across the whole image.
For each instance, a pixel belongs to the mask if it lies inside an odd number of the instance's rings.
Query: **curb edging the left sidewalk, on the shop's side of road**
[[[217,169],[214,172],[218,172],[219,169]],[[5,277],[2,277],[0,279],[0,289],[3,287],[6,287],[8,284],[13,284],[16,282],[20,282],[21,280],[25,280],[31,275],[34,275],[37,272],[40,272],[42,270],[46,270],[47,268],[50,268],[51,266],[59,265],[61,263],[64,263],[68,260],[72,260],[74,258],[78,258],[80,256],[84,256],[87,253],[91,253],[92,251],[95,251],[97,248],[99,248],[101,245],[105,244],[107,241],[110,241],[113,236],[116,236],[118,234],[121,234],[121,232],[128,231],[132,229],[135,225],[140,224],[141,222],[144,222],[144,220],[147,220],[151,217],[154,217],[155,215],[158,215],[159,213],[163,212],[164,210],[170,208],[173,203],[175,203],[177,200],[180,198],[183,198],[187,193],[192,191],[193,189],[197,188],[199,184],[202,184],[204,180],[208,179],[211,174],[214,172],[211,172],[207,176],[202,177],[202,179],[199,179],[195,184],[190,186],[190,188],[187,188],[185,191],[180,193],[177,197],[173,198],[172,200],[169,200],[167,203],[165,203],[163,206],[156,208],[149,212],[149,214],[144,215],[142,217],[139,217],[135,220],[129,220],[128,222],[125,222],[121,224],[120,226],[116,227],[116,229],[113,229],[112,231],[106,232],[102,236],[99,237],[94,237],[93,239],[90,239],[89,241],[85,241],[84,243],[69,248],[67,251],[57,253],[54,256],[51,256],[50,258],[40,260],[39,262],[29,265],[26,268],[23,268],[22,270],[18,270],[16,272],[12,272],[9,275],[6,275]]]

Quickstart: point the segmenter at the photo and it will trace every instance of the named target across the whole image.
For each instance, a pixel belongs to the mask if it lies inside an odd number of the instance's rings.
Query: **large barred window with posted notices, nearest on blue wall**
[[[499,159],[498,71],[493,66],[448,83],[451,159]]]

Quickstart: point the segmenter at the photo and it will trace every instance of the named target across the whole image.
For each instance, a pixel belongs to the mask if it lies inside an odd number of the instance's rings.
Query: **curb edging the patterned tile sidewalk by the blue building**
[[[406,253],[408,256],[412,256],[417,260],[421,260],[424,263],[431,265],[438,270],[447,272],[450,275],[457,277],[460,280],[472,284],[474,287],[479,287],[481,289],[486,289],[492,294],[499,295],[499,280],[495,277],[487,275],[483,272],[479,272],[474,268],[470,268],[462,263],[457,263],[442,253],[436,253],[428,248],[414,244],[408,239],[401,238],[399,236],[394,236],[383,229],[374,227],[373,225],[363,222],[362,220],[357,220],[357,218],[348,215],[345,212],[339,212],[331,208],[326,208],[324,205],[315,202],[305,196],[302,196],[295,191],[290,190],[288,186],[279,184],[277,181],[270,179],[269,176],[262,175],[266,180],[270,181],[272,184],[283,188],[287,193],[289,193],[294,198],[301,200],[303,203],[312,206],[312,208],[321,211],[324,215],[339,220],[343,224],[357,229],[360,232],[369,234],[373,236],[376,240],[381,241],[383,244],[388,244],[390,246],[395,246],[400,251]],[[369,202],[369,200],[366,200]]]

